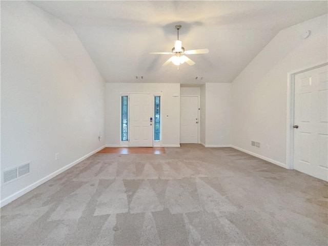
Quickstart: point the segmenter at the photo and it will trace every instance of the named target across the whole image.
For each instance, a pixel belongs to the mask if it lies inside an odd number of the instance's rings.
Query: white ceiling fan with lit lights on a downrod
[[[168,65],[171,61],[174,65],[179,66],[180,64],[187,63],[192,66],[195,65],[195,62],[188,58],[186,55],[192,54],[207,54],[209,53],[209,49],[198,49],[198,50],[185,50],[185,47],[182,47],[182,42],[179,40],[179,30],[181,25],[176,25],[178,39],[174,41],[174,47],[172,48],[172,52],[151,52],[150,54],[161,54],[161,55],[173,55],[169,58],[162,66]],[[179,67],[178,67],[179,69]]]

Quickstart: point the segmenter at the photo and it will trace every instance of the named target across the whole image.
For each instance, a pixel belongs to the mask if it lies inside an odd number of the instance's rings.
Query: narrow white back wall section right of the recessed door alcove
[[[206,147],[230,146],[231,84],[206,83]]]

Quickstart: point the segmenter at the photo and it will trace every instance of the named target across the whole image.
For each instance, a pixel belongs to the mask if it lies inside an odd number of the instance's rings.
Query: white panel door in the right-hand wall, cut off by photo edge
[[[326,181],[327,89],[327,66],[295,76],[294,169]]]

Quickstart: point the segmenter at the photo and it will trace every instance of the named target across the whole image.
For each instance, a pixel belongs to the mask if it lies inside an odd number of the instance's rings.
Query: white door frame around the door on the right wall
[[[327,61],[323,61],[319,65],[297,69],[289,72],[287,84],[287,117],[286,117],[286,168],[294,169],[294,107],[295,107],[295,76],[316,68],[328,65]]]

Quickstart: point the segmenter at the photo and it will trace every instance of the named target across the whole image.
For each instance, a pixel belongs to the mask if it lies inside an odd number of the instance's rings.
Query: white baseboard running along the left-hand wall
[[[57,171],[49,174],[48,176],[46,176],[46,177],[44,177],[42,179],[37,180],[36,182],[34,182],[31,185],[29,185],[29,186],[27,186],[27,187],[25,187],[25,188],[23,188],[23,189],[15,192],[14,194],[12,194],[10,196],[7,196],[6,198],[4,198],[4,199],[2,199],[0,201],[0,208],[2,208],[3,206],[7,205],[10,202],[12,202],[13,200],[17,199],[18,197],[25,195],[26,193],[30,192],[31,190],[35,189],[36,187],[42,185],[43,183],[45,183],[48,180],[52,179],[53,177],[57,176],[58,174],[65,172],[66,170],[68,170],[71,167],[75,166],[77,163],[79,163],[79,162],[87,159],[89,156],[97,153],[99,150],[102,150],[104,148],[105,148],[105,146],[102,146],[102,147],[100,147],[100,148],[98,148],[98,149],[90,152],[89,154],[87,154],[87,155],[85,155],[85,156],[83,156],[83,157],[81,157],[81,158],[73,161],[69,165],[67,165],[67,166],[65,166],[63,168],[58,169]]]

